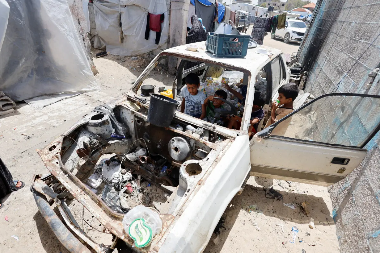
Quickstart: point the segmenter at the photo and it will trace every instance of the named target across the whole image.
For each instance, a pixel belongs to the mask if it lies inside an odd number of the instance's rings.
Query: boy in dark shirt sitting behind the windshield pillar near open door
[[[264,110],[263,106],[265,105],[265,93],[255,92],[255,96],[253,97],[253,106],[251,113],[250,126],[248,129],[249,137],[253,134],[257,133],[257,127],[260,123],[260,120],[264,118]],[[242,118],[239,116],[232,116],[230,121],[228,122],[228,128],[230,129],[240,129]]]

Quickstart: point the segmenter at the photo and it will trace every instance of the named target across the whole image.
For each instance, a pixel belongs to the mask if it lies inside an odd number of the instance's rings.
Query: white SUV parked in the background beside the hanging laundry
[[[290,20],[285,22],[284,29],[276,29],[275,35],[271,38],[282,38],[285,43],[301,42],[306,32],[306,24],[302,20]]]

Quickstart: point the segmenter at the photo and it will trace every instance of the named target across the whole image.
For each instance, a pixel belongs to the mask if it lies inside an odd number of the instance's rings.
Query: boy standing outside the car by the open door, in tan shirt
[[[265,127],[269,127],[271,124],[279,121],[283,117],[287,116],[289,113],[293,112],[293,101],[298,96],[298,86],[294,83],[287,83],[279,88],[279,97],[277,100],[280,102],[278,104],[272,104],[271,118],[265,124]],[[272,130],[272,135],[284,136],[286,130],[288,129],[291,117],[277,125]]]

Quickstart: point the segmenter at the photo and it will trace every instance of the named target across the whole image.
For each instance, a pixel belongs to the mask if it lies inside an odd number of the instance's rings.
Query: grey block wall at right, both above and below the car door
[[[314,11],[317,19],[298,54],[304,65],[315,57],[305,91],[315,96],[380,94],[380,73],[372,85],[368,76],[380,63],[380,1],[320,1],[319,12]],[[358,118],[366,114],[361,110]],[[365,129],[362,121],[357,122],[356,129]],[[370,151],[361,165],[329,188],[343,253],[380,252],[379,143],[378,133],[366,146]]]

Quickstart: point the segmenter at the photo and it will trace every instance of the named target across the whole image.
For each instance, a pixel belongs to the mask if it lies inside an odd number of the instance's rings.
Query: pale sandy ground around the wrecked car
[[[282,49],[284,53],[296,52],[298,49],[297,44],[285,44],[269,36],[264,39],[264,45]],[[23,189],[2,200],[5,206],[0,210],[0,252],[67,252],[41,217],[29,190],[33,174],[48,172],[35,149],[46,146],[95,106],[122,96],[131,88],[149,61],[150,59],[131,60],[130,57],[113,55],[94,59],[99,71],[96,79],[102,89],[99,93],[81,94],[42,110],[19,103],[15,108],[16,113],[0,116],[1,157],[13,178],[25,182]],[[155,70],[149,76],[149,83],[156,87],[170,86],[172,82],[173,77],[165,70],[162,74],[160,70]],[[263,186],[270,185],[283,195],[283,202],[265,198]],[[307,253],[338,252],[335,226],[331,218],[331,201],[326,188],[298,183],[290,185],[289,187],[284,181],[251,177],[244,192],[233,198],[223,215],[225,229],[220,233],[220,243],[215,245],[210,241],[204,252],[301,252],[302,248]],[[283,206],[283,203],[303,201],[309,203],[309,215],[315,220],[314,229],[309,228],[309,217],[302,214],[298,207],[292,210]],[[81,219],[83,211],[77,203],[76,200],[71,201],[70,208]],[[245,207],[253,204],[262,213],[245,211]],[[57,212],[56,208],[55,211]],[[102,231],[103,227],[86,211],[84,218]],[[260,231],[252,222],[256,222]],[[277,224],[283,225],[283,231]],[[292,226],[299,228],[298,236],[302,242],[290,244]],[[109,244],[108,234],[95,231],[86,223],[84,227],[96,242]],[[305,235],[307,232],[310,236]],[[18,236],[19,240],[12,235]]]

